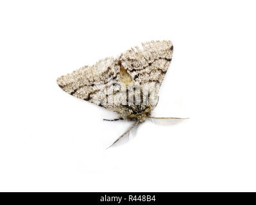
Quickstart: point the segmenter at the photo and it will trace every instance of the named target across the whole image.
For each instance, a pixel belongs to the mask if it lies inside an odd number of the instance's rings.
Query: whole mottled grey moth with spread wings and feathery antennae
[[[144,42],[141,47],[132,47],[117,58],[108,57],[61,76],[57,83],[65,92],[119,115],[118,119],[103,120],[133,121],[112,143],[114,145],[146,119],[164,122],[181,119],[151,116],[172,55],[173,44],[169,40]]]

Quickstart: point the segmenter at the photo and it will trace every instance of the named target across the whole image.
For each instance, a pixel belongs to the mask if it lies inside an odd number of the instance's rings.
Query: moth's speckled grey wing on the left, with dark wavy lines
[[[118,83],[119,72],[120,65],[109,57],[61,76],[57,83],[68,94],[101,106],[107,104],[108,83],[111,82],[113,89],[119,89],[114,86]]]

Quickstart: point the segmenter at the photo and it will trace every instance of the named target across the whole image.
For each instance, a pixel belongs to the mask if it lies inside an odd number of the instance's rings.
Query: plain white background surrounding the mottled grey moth
[[[255,1],[1,1],[0,191],[256,191]],[[130,125],[56,78],[148,40],[173,61],[154,110]]]

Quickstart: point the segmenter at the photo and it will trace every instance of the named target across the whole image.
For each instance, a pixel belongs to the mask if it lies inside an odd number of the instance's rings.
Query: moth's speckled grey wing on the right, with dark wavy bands
[[[132,47],[117,59],[135,85],[149,90],[151,102],[156,105],[172,55],[173,44],[169,40],[162,40],[142,43],[142,48]]]

